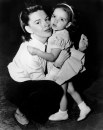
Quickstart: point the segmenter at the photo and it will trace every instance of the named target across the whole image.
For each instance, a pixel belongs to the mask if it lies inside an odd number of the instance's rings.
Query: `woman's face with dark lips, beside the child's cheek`
[[[49,17],[43,10],[38,10],[29,15],[28,27],[31,30],[29,33],[37,37],[48,38],[51,36]]]

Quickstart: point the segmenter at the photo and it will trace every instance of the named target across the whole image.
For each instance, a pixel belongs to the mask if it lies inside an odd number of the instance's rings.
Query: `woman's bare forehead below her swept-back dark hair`
[[[29,15],[30,20],[39,20],[39,19],[45,19],[47,17],[47,14],[44,10],[38,10],[36,12],[33,12]]]

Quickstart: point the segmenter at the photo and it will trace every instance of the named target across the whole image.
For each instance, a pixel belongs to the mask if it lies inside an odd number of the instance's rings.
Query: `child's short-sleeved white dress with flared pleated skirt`
[[[69,32],[67,30],[57,31],[48,39],[47,52],[51,53],[53,48],[63,50],[70,47],[70,45]],[[51,78],[54,77],[55,82],[60,85],[85,70],[85,54],[74,47],[70,49],[70,52],[71,56],[64,62],[61,70],[55,70],[53,62],[47,63],[48,74],[51,75]]]

